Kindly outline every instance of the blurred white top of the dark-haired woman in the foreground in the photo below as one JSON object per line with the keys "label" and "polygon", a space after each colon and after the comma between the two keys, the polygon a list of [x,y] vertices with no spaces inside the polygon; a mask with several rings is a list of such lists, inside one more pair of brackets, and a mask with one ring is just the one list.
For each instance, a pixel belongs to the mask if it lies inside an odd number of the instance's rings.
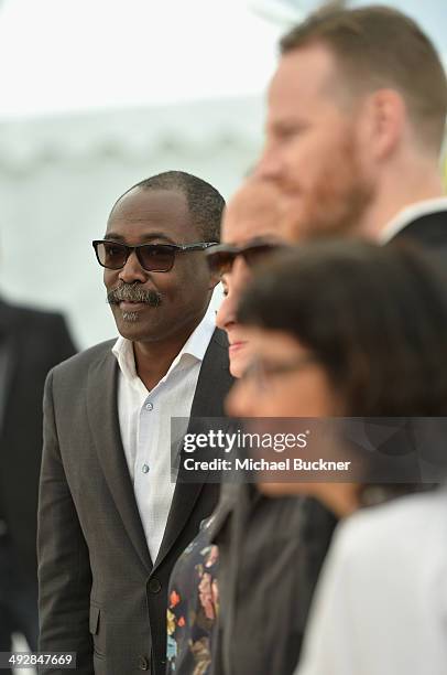
{"label": "blurred white top of the dark-haired woman in the foreground", "polygon": [[447,493],[339,525],[295,675],[446,675]]}

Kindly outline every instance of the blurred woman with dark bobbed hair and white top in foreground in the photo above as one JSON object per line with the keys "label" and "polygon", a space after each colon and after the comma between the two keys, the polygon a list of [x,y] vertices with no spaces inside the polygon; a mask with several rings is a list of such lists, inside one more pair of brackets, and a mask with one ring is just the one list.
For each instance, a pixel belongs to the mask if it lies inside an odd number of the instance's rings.
{"label": "blurred woman with dark bobbed hair and white top in foreground", "polygon": [[[260,270],[238,318],[250,329],[252,365],[230,394],[233,415],[447,414],[446,297],[417,250],[303,246]],[[339,516],[368,493],[336,482],[263,482],[260,489],[273,496],[313,494]],[[347,519],[325,562],[299,675],[445,673],[446,518],[440,490]]]}

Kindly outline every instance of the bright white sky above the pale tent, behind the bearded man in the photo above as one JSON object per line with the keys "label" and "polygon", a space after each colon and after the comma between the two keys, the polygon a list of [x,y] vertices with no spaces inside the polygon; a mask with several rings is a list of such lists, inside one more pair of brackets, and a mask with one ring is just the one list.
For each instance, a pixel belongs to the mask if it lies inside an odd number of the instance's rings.
{"label": "bright white sky above the pale tent, behind the bearded man", "polygon": [[[317,4],[0,0],[0,118],[262,95],[285,21]],[[392,4],[447,52],[447,0]]]}

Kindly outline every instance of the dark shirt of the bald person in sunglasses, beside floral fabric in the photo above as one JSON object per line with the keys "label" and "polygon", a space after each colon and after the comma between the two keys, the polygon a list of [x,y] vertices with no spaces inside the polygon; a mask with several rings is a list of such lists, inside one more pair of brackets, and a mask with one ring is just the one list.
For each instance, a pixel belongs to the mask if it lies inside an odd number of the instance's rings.
{"label": "dark shirt of the bald person in sunglasses, beside floral fabric", "polygon": [[212,675],[292,675],[335,516],[305,497],[222,486],[211,540],[219,547]]}

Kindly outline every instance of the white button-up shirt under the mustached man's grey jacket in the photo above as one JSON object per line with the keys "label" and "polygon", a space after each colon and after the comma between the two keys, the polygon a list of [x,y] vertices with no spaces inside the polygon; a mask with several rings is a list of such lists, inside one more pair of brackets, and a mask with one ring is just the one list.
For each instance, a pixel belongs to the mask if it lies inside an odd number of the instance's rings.
{"label": "white button-up shirt under the mustached man's grey jacket", "polygon": [[118,415],[122,444],[151,559],[155,562],[175,482],[171,479],[171,417],[189,417],[197,379],[215,330],[208,309],[166,375],[149,392],[135,369],[133,343],[120,336]]}

